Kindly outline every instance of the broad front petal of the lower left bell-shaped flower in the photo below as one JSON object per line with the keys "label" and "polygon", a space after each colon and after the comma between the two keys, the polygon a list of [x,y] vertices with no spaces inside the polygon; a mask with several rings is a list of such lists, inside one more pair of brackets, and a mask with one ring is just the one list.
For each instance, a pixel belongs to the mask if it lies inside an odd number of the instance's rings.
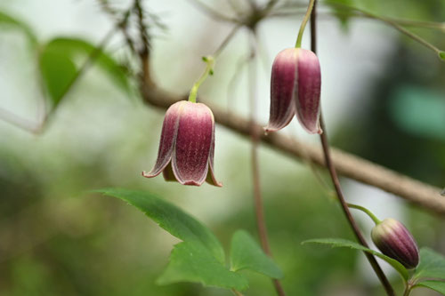
{"label": "broad front petal of the lower left bell-shaped flower", "polygon": [[185,102],[172,157],[174,176],[181,184],[200,186],[206,180],[213,132],[212,111],[204,104]]}

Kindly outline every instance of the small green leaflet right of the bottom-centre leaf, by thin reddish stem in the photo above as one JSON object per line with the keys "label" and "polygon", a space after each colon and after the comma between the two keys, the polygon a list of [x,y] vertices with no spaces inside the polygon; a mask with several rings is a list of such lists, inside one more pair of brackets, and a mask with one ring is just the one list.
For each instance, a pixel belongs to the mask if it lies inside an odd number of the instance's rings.
{"label": "small green leaflet right of the bottom-centre leaf, by thin reddish stem", "polygon": [[265,276],[281,278],[283,273],[267,256],[254,238],[244,230],[235,232],[231,239],[231,270],[250,269]]}

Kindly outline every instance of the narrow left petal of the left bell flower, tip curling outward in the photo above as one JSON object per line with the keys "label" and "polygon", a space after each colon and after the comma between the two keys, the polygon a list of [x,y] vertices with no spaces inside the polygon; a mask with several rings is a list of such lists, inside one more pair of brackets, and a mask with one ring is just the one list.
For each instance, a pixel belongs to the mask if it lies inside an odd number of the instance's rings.
{"label": "narrow left petal of the left bell flower, tip curling outward", "polygon": [[155,167],[150,172],[142,172],[142,176],[146,178],[156,177],[170,162],[184,103],[184,100],[178,101],[167,109],[164,124],[162,125],[161,140],[159,141],[158,159],[156,160]]}

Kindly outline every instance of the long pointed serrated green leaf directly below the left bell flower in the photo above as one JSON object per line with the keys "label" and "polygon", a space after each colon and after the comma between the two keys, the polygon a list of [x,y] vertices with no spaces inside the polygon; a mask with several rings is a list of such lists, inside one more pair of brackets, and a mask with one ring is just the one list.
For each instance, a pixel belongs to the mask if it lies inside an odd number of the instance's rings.
{"label": "long pointed serrated green leaf directly below the left bell flower", "polygon": [[161,228],[166,229],[172,236],[176,236],[184,242],[202,244],[215,260],[222,264],[225,262],[223,246],[214,234],[174,204],[170,204],[146,191],[104,188],[94,190],[94,192],[125,200],[128,204],[134,205],[145,213],[151,220],[157,222]]}

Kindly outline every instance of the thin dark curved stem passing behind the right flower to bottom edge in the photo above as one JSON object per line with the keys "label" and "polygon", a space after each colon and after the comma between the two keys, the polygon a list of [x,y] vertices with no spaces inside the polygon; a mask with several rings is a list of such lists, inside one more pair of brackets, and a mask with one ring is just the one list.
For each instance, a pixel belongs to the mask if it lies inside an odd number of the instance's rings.
{"label": "thin dark curved stem passing behind the right flower to bottom edge", "polygon": [[[317,52],[317,28],[316,28],[316,8],[314,4],[314,8],[312,10],[312,16],[311,16],[311,50],[312,52]],[[334,188],[336,189],[336,195],[338,197],[338,201],[340,202],[340,205],[342,206],[342,210],[344,212],[344,216],[348,220],[349,224],[351,225],[352,231],[354,232],[354,235],[357,237],[357,240],[365,247],[368,247],[368,243],[366,242],[365,238],[360,232],[360,228],[355,222],[355,220],[352,217],[351,212],[349,211],[348,205],[346,204],[346,201],[344,200],[344,195],[342,192],[342,188],[340,186],[340,180],[338,180],[338,176],[336,174],[336,169],[334,167],[334,164],[332,163],[332,159],[330,156],[330,150],[329,150],[329,143],[328,143],[328,136],[327,136],[327,129],[323,120],[323,115],[320,112],[320,127],[323,131],[320,134],[320,140],[321,140],[321,146],[323,149],[323,155],[325,158],[325,164],[328,167],[329,174],[331,176],[332,183],[334,184]],[[384,272],[382,268],[378,265],[376,258],[369,254],[368,252],[364,252],[365,256],[367,257],[371,267],[376,272],[376,276],[378,276],[380,282],[384,286],[385,292],[388,294],[388,296],[395,296],[394,291],[392,290],[392,286],[389,283],[386,276],[384,276]]]}

